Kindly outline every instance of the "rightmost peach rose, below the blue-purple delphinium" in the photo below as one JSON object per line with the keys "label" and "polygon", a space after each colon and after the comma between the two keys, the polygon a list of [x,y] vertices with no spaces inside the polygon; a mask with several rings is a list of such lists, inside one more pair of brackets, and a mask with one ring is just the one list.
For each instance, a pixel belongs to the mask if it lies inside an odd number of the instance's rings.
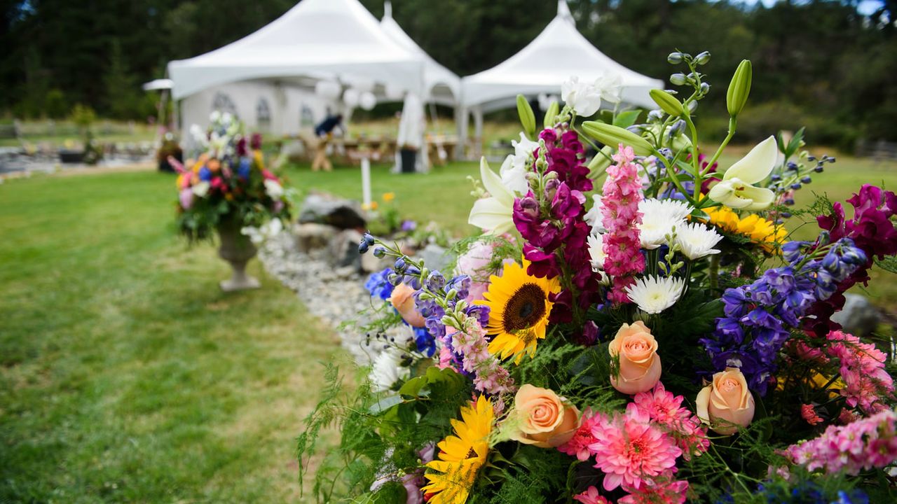
{"label": "rightmost peach rose, below the blue-purple delphinium", "polygon": [[701,388],[695,399],[698,418],[724,436],[753,420],[753,395],[741,369],[726,368],[713,375],[713,382]]}

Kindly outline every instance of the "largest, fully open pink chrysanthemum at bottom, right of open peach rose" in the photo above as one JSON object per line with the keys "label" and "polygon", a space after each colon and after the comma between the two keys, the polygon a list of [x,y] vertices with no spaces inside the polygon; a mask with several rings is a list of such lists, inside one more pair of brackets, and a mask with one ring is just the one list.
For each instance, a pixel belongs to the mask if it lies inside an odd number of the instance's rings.
{"label": "largest, fully open pink chrysanthemum at bottom, right of open peach rose", "polygon": [[596,467],[605,473],[605,490],[621,484],[640,488],[660,474],[675,472],[675,459],[682,455],[675,439],[650,424],[648,414],[635,404],[626,413],[602,418],[592,429],[596,442],[588,446]]}

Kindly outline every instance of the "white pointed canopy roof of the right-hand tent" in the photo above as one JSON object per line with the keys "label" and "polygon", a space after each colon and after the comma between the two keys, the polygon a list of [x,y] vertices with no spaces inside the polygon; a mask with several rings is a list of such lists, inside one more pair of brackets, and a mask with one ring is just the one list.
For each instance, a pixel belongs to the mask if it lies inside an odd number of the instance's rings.
{"label": "white pointed canopy roof of the right-hand tent", "polygon": [[512,107],[518,94],[557,93],[571,75],[578,75],[580,81],[617,75],[623,82],[623,101],[646,107],[654,106],[648,91],[664,85],[620,65],[590,44],[576,30],[566,0],[560,0],[553,21],[527,47],[461,80],[464,103],[483,111]]}

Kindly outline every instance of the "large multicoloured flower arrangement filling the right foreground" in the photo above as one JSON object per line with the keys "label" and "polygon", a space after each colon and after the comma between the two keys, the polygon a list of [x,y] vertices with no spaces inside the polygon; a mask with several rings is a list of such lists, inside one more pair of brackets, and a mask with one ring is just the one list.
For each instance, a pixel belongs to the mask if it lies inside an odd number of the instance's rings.
{"label": "large multicoloured flower arrangement filling the right foreground", "polygon": [[[350,393],[330,369],[299,438],[307,468],[319,431],[342,433],[314,459],[318,500],[895,501],[892,360],[831,316],[873,265],[897,269],[897,196],[796,210],[834,161],[802,133],[720,166],[751,65],[707,155],[709,60],[671,54],[679,91],[651,91],[643,122],[582,120],[618,100],[606,83],[566,83],[541,131],[518,100],[524,132],[499,173],[482,162],[484,233],[450,273],[365,235],[395,265],[367,283],[370,377]],[[817,237],[790,239],[783,223],[809,217]]]}

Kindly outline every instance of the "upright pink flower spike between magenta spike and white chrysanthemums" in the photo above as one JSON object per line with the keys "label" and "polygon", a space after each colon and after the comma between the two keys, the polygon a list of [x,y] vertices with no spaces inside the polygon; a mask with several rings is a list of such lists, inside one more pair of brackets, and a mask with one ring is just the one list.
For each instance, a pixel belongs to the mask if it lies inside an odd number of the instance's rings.
{"label": "upright pink flower spike between magenta spike and white chrysanthemums", "polygon": [[614,154],[616,164],[607,168],[601,197],[602,223],[607,230],[605,272],[614,276],[614,286],[607,298],[617,303],[631,302],[625,289],[634,282],[633,275],[645,269],[638,227],[641,223],[641,182],[638,167],[632,162],[634,159],[632,148],[621,143]]}

